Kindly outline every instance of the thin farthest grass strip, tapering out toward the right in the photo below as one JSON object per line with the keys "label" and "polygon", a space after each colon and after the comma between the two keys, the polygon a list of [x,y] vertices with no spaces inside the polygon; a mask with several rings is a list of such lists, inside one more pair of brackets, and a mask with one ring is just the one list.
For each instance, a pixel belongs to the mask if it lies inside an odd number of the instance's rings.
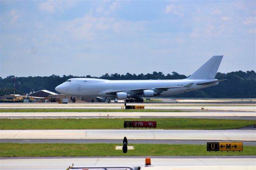
{"label": "thin farthest grass strip, tapering out toward the right", "polygon": [[0,112],[188,112],[178,110],[126,109],[0,109]]}

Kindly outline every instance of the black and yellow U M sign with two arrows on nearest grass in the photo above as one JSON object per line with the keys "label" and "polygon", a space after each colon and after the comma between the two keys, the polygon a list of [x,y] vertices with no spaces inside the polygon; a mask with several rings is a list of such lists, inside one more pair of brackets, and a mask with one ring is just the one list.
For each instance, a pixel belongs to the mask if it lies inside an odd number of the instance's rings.
{"label": "black and yellow U M sign with two arrows on nearest grass", "polygon": [[207,142],[207,151],[243,151],[243,142]]}

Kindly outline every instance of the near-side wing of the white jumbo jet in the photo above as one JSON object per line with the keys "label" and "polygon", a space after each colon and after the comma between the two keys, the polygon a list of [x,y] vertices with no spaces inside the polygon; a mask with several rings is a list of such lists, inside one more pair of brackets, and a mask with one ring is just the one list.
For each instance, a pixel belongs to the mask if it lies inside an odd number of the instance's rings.
{"label": "near-side wing of the white jumbo jet", "polygon": [[143,90],[153,90],[158,93],[162,93],[163,91],[167,91],[168,89],[179,88],[179,87],[191,87],[194,83],[189,83],[185,86],[172,86],[172,87],[156,87],[156,88],[146,88],[146,89],[128,89],[128,90],[120,90],[120,91],[106,91],[107,95],[116,95],[118,92],[133,92],[134,94],[142,93]]}

